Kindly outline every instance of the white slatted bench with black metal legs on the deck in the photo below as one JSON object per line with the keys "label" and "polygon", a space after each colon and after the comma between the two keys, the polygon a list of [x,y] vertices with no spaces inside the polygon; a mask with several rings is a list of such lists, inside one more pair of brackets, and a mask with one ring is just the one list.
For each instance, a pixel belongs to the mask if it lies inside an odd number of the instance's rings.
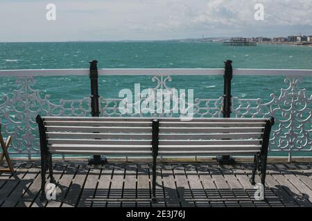
{"label": "white slatted bench with black metal legs on the deck", "polygon": [[52,154],[153,157],[156,201],[157,157],[254,155],[254,176],[266,179],[266,159],[274,118],[40,117],[42,195],[46,169],[53,180]]}

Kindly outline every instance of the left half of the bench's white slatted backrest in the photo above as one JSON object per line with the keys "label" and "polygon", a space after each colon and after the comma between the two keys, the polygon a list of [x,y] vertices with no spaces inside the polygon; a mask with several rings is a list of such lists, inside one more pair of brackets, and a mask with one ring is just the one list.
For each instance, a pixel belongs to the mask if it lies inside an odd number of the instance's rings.
{"label": "left half of the bench's white slatted backrest", "polygon": [[150,119],[42,117],[51,153],[151,155]]}

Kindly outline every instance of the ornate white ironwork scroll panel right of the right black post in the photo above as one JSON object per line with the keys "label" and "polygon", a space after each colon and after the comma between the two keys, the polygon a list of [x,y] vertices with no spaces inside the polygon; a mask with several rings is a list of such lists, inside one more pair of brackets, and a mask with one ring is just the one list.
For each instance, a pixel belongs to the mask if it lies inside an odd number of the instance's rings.
{"label": "ornate white ironwork scroll panel right of the right black post", "polygon": [[312,95],[300,88],[301,78],[287,77],[288,88],[270,95],[270,102],[261,99],[233,97],[235,117],[275,117],[270,151],[312,151]]}

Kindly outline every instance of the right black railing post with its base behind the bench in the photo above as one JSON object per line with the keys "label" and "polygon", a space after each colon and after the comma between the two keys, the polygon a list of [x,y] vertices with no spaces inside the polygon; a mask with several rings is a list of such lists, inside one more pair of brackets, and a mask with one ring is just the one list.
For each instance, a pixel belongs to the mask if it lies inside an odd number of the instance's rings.
{"label": "right black railing post with its base behind the bench", "polygon": [[[232,113],[232,78],[233,78],[233,67],[231,60],[224,61],[225,72],[224,72],[224,93],[223,93],[223,117],[231,117]],[[220,164],[234,164],[233,157],[229,155],[217,156],[216,159]]]}

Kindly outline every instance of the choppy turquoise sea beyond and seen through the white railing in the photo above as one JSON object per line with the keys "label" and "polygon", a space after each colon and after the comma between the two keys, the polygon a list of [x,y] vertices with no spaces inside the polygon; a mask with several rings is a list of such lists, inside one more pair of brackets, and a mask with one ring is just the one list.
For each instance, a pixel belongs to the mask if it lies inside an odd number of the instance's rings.
{"label": "choppy turquoise sea beyond and seen through the white railing", "polygon": [[[231,59],[234,68],[312,69],[312,47],[258,45],[229,47],[218,43],[175,41],[150,42],[61,42],[0,43],[0,70],[41,68],[89,68],[98,60],[98,68],[223,68]],[[122,88],[155,87],[150,76],[101,76],[101,96],[117,98]],[[218,98],[223,95],[222,76],[173,76],[168,86],[193,88],[195,97]],[[234,76],[232,94],[241,98],[261,98],[268,102],[271,93],[279,95],[287,88],[284,77]],[[35,89],[42,95],[59,99],[81,99],[89,96],[89,77],[35,77]],[[300,88],[311,95],[312,77],[304,77]],[[0,104],[3,94],[16,89],[15,78],[0,77]]]}

